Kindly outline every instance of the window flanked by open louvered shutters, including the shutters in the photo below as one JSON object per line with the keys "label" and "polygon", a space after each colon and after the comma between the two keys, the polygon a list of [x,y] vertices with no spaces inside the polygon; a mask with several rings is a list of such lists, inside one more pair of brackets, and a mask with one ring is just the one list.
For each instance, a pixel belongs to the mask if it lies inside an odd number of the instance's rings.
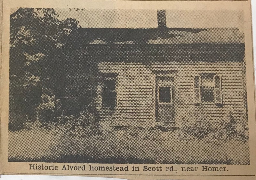
{"label": "window flanked by open louvered shutters, including the shutters", "polygon": [[195,103],[209,102],[222,104],[221,77],[215,74],[202,74],[194,77]]}

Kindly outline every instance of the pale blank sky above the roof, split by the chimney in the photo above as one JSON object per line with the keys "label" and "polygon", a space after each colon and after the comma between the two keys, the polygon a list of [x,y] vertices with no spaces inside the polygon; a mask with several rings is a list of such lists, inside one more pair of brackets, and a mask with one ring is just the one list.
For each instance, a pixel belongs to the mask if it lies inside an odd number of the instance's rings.
{"label": "pale blank sky above the roof, split by the chimney", "polygon": [[[156,28],[157,10],[56,9],[60,19],[75,18],[81,27]],[[167,27],[230,28],[243,31],[242,11],[166,10]]]}

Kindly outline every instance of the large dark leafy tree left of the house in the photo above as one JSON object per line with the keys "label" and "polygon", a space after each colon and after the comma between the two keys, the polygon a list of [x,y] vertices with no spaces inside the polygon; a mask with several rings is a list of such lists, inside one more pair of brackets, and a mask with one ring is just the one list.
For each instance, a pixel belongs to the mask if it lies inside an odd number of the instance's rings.
{"label": "large dark leafy tree left of the house", "polygon": [[20,8],[10,16],[10,112],[14,119],[19,113],[23,119],[33,119],[42,94],[58,97],[60,55],[66,37],[78,28],[77,20],[58,18],[54,9],[34,8]]}

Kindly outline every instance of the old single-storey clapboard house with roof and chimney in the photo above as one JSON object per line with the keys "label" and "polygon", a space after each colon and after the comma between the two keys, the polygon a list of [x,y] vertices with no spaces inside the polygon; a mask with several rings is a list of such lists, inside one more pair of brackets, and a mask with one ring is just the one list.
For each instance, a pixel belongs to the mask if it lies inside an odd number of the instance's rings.
{"label": "old single-storey clapboard house with roof and chimney", "polygon": [[157,11],[157,20],[156,28],[72,32],[63,87],[67,104],[91,103],[101,123],[114,126],[180,127],[184,118],[216,122],[229,111],[242,120],[243,40],[228,29],[166,27],[164,10]]}

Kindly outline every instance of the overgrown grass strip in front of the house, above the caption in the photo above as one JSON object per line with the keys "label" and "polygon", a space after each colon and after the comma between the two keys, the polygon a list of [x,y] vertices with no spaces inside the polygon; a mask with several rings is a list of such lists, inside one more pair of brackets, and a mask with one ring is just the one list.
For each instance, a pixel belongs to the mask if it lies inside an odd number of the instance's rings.
{"label": "overgrown grass strip in front of the house, above the caption", "polygon": [[108,129],[84,137],[56,129],[10,131],[8,155],[15,162],[250,164],[248,142],[197,139],[180,129]]}

